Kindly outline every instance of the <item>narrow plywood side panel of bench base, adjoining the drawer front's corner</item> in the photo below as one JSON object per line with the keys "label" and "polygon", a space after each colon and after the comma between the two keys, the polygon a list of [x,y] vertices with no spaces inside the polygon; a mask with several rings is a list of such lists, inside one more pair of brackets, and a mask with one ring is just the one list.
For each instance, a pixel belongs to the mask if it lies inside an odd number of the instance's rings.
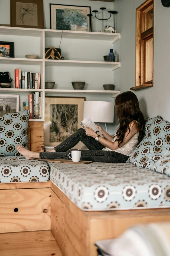
{"label": "narrow plywood side panel of bench base, adjoining the drawer front's corner", "polygon": [[64,203],[51,190],[51,231],[64,254]]}

